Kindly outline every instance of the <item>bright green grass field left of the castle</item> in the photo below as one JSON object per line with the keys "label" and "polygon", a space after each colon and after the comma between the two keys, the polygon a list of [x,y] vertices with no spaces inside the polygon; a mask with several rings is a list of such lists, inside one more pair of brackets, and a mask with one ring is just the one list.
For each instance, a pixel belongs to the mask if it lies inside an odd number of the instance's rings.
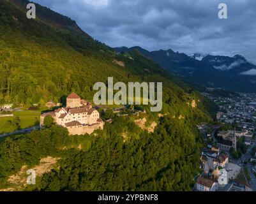
{"label": "bright green grass field left of the castle", "polygon": [[20,127],[22,129],[33,127],[36,121],[40,120],[39,111],[20,111],[14,112],[13,114],[13,117],[0,117],[0,134],[15,131],[15,128],[8,124],[8,120],[13,120],[14,117],[20,118]]}

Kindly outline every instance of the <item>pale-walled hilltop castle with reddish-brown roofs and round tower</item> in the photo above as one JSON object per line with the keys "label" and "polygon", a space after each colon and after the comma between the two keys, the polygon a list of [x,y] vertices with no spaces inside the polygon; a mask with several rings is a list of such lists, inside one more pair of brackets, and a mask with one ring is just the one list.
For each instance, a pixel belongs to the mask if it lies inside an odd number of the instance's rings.
{"label": "pale-walled hilltop castle with reddish-brown roofs and round tower", "polygon": [[65,108],[43,113],[40,117],[40,126],[43,126],[43,120],[47,115],[52,116],[59,126],[68,128],[70,135],[91,134],[95,129],[103,129],[104,126],[100,113],[91,103],[81,99],[74,92],[66,98]]}

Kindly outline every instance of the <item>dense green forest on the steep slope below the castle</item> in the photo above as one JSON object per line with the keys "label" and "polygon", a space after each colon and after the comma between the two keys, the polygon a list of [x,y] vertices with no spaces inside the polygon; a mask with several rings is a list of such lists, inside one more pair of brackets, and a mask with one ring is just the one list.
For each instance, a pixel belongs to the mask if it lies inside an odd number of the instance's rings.
{"label": "dense green forest on the steep slope below the castle", "polygon": [[[156,131],[147,133],[132,118],[121,117],[97,136],[68,136],[66,129],[52,125],[6,138],[0,143],[0,187],[9,187],[6,179],[24,163],[33,167],[52,156],[61,157],[59,168],[26,190],[189,191],[202,148],[195,122],[162,117]],[[129,135],[126,142],[123,132]],[[75,148],[81,143],[82,149]]]}

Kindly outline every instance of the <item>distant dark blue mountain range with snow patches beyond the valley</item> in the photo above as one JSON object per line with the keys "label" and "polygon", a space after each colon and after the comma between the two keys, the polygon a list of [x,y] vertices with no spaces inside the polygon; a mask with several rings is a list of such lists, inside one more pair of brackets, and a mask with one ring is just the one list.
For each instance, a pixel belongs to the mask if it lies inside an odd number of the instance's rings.
{"label": "distant dark blue mountain range with snow patches beyond the valley", "polygon": [[196,87],[216,87],[236,92],[256,92],[256,66],[241,55],[234,57],[221,55],[193,54],[158,50],[149,52],[141,47],[119,47],[117,52],[127,53],[139,50],[153,59],[184,82]]}

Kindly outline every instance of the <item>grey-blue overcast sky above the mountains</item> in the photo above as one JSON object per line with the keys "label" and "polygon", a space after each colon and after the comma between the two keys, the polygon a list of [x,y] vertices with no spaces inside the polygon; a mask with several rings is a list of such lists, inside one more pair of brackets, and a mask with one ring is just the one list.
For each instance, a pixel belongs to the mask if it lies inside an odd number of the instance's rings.
{"label": "grey-blue overcast sky above the mountains", "polygon": [[[33,0],[111,47],[244,55],[256,64],[255,0]],[[218,18],[226,3],[228,18]]]}

